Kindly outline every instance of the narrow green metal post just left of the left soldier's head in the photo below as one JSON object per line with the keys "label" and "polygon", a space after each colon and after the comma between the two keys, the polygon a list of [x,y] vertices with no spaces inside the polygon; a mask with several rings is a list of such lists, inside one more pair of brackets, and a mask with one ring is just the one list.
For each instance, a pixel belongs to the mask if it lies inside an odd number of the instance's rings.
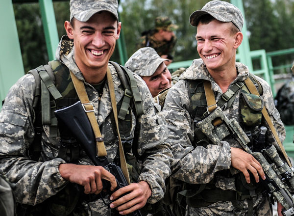
{"label": "narrow green metal post just left of the left soldier's head", "polygon": [[39,0],[49,60],[55,59],[59,38],[52,0]]}

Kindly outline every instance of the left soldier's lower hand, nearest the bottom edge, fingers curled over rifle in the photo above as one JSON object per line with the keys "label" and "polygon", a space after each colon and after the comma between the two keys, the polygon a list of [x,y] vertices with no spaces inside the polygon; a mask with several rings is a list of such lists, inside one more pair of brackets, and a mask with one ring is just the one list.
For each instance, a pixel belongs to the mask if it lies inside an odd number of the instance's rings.
{"label": "left soldier's lower hand, nearest the bottom edge, fingers curled over rifle", "polygon": [[[125,194],[127,193],[127,194]],[[122,196],[125,194],[124,196]],[[121,198],[119,198],[122,196]],[[146,205],[151,196],[151,189],[147,182],[132,183],[111,194],[110,200],[118,200],[110,204],[110,208],[116,208],[121,215],[127,215]]]}

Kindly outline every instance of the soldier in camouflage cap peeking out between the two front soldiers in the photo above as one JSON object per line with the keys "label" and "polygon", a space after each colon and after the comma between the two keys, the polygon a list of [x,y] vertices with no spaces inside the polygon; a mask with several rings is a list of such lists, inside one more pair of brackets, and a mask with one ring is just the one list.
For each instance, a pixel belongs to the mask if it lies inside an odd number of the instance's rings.
{"label": "soldier in camouflage cap peeking out between the two front soldiers", "polygon": [[171,73],[165,61],[169,59],[161,58],[153,48],[145,47],[136,51],[124,66],[139,75],[146,82],[152,97],[155,97],[172,86]]}

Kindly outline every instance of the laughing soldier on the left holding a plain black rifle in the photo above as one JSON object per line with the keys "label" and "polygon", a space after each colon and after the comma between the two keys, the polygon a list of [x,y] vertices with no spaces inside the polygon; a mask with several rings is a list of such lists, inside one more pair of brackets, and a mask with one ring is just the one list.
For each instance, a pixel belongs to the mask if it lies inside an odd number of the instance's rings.
{"label": "laughing soldier on the left holding a plain black rifle", "polygon": [[[117,9],[117,0],[71,0],[71,21],[65,21],[67,35],[61,38],[57,60],[49,62],[49,66],[54,69],[57,88],[67,82],[66,86],[61,86],[65,87],[61,92],[64,103],[70,103],[72,99],[64,95],[73,94],[73,99],[77,98],[71,87],[69,70],[73,78],[83,83],[102,134],[97,139],[104,141],[108,161],[120,164],[117,133],[111,120],[114,111],[110,102],[110,83],[113,82],[117,102],[125,93],[121,89],[123,81],[118,76],[118,69],[109,62],[121,32]],[[53,67],[53,64],[58,66]],[[102,166],[94,166],[78,145],[70,148],[61,145],[59,134],[54,135],[57,131],[53,130],[53,120],[51,125],[43,122],[41,127],[42,142],[37,145],[41,149],[40,157],[37,161],[30,158],[30,151],[35,152],[31,147],[39,129],[34,127],[34,122],[41,118],[33,108],[38,83],[32,74],[27,74],[11,87],[0,112],[0,172],[15,184],[16,201],[22,207],[19,215],[110,216],[114,209],[127,215],[163,197],[165,178],[171,173],[171,146],[164,141],[167,134],[162,127],[163,119],[157,113],[158,108],[152,102],[146,83],[139,76],[132,76],[132,84],[135,84],[132,86],[138,90],[138,106],[143,110],[140,114],[126,110],[130,121],[124,121],[128,125],[122,125],[122,129],[128,129],[130,137],[126,137],[123,147],[127,158],[136,156],[134,161],[141,160],[142,168],[133,183],[110,193],[111,203],[96,194],[102,190],[102,179],[110,182],[113,191],[117,186],[115,177]],[[44,101],[41,102],[43,110]],[[61,102],[51,101],[54,104],[51,108],[65,106]],[[131,144],[134,134],[137,143],[127,145]],[[134,166],[128,168],[131,170]],[[76,188],[82,188],[82,191]]]}

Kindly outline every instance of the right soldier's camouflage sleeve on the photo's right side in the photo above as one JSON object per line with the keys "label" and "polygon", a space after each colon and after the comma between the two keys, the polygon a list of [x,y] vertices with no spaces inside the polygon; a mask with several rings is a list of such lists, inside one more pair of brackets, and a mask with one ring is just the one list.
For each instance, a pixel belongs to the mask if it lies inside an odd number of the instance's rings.
{"label": "right soldier's camouflage sleeve on the photo's right side", "polygon": [[[278,112],[278,110],[274,106],[274,101],[273,101],[270,86],[266,81],[262,80],[261,78],[259,78],[257,76],[255,76],[255,78],[262,85],[262,88],[263,88],[262,98],[264,100],[264,106],[266,107],[266,109],[270,115],[270,119],[273,123],[273,126],[274,126],[281,142],[283,143],[284,139],[286,138],[286,131],[284,128],[284,124],[281,121],[280,113]],[[269,129],[270,127],[268,126],[267,128]],[[275,140],[274,136],[272,135],[272,133],[270,132],[270,130],[267,131],[267,137],[268,137],[268,142],[270,144],[273,144],[277,149],[280,149],[278,143],[276,142],[276,140]]]}

